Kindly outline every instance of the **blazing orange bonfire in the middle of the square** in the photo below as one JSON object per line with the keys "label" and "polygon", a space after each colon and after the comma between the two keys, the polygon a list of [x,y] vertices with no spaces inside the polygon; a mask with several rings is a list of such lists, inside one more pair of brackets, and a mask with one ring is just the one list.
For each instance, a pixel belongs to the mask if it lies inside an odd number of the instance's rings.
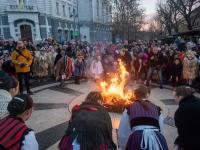
{"label": "blazing orange bonfire in the middle of the square", "polygon": [[104,106],[111,112],[121,113],[134,100],[134,93],[126,88],[129,73],[124,63],[118,60],[116,73],[109,74],[106,81],[99,84]]}

